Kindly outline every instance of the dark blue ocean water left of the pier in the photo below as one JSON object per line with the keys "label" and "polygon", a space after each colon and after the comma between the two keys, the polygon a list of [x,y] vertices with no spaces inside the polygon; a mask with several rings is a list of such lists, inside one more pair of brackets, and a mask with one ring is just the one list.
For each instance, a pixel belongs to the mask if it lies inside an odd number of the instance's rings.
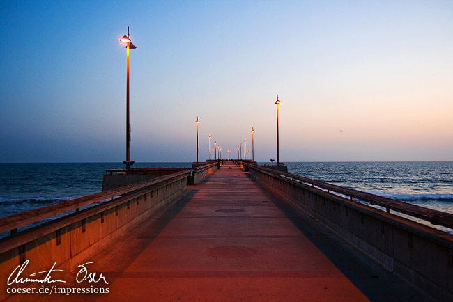
{"label": "dark blue ocean water left of the pier", "polygon": [[[134,168],[190,168],[192,163],[135,163]],[[0,164],[0,218],[102,189],[107,169],[122,163]]]}

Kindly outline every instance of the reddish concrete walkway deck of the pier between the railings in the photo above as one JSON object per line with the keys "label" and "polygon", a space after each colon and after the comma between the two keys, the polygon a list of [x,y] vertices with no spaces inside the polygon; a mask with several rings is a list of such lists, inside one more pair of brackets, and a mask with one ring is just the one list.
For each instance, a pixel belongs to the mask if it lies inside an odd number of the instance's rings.
{"label": "reddish concrete walkway deck of the pier between the railings", "polygon": [[91,260],[109,294],[88,299],[429,301],[314,224],[226,164]]}

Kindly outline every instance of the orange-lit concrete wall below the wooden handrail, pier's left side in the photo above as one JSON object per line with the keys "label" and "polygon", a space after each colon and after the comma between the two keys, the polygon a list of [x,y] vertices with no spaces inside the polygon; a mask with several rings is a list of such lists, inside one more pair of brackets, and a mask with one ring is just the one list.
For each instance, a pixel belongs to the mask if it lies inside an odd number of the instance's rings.
{"label": "orange-lit concrete wall below the wooden handrail, pier's left side", "polygon": [[[186,188],[187,175],[181,175],[130,194],[130,197],[126,195],[118,200],[103,202],[2,241],[0,248],[6,251],[0,254],[0,301],[7,298],[8,276],[24,260],[29,259],[30,262],[23,276],[29,276],[29,273],[43,268],[49,269],[54,262],[57,262],[59,269],[74,270],[79,264],[89,260],[91,255],[110,246],[125,232],[181,196]],[[109,204],[113,206],[110,207]],[[27,237],[29,241],[17,246],[15,241],[19,237]],[[10,298],[20,299],[21,296],[15,294]]]}

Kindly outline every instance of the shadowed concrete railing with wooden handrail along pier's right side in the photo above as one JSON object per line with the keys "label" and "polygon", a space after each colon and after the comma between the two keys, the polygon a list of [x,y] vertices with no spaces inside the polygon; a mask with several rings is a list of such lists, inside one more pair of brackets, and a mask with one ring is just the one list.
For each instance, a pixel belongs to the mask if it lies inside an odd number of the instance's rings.
{"label": "shadowed concrete railing with wooden handrail along pier's right side", "polygon": [[[399,205],[397,200],[250,165],[249,173],[275,193],[326,225],[387,271],[397,273],[440,301],[453,301],[453,235],[353,201],[387,201],[387,208],[412,212],[452,228],[452,214]],[[311,184],[309,182],[312,181]],[[307,183],[308,182],[308,183]],[[316,182],[316,187],[314,182]],[[330,193],[341,191],[342,196]],[[404,203],[404,202],[401,202]],[[385,207],[381,203],[381,206]]]}

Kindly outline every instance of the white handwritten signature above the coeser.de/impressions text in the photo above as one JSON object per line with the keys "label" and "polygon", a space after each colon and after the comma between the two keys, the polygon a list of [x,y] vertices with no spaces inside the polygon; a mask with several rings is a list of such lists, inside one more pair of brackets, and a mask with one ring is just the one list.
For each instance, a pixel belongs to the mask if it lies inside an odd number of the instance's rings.
{"label": "white handwritten signature above the coeser.de/impressions text", "polygon": [[[27,283],[27,282],[37,282],[37,283],[56,283],[56,282],[61,282],[61,283],[66,283],[65,280],[59,280],[59,279],[52,279],[52,276],[50,274],[53,271],[64,271],[63,269],[55,269],[56,262],[54,262],[54,265],[52,265],[52,268],[49,269],[48,271],[38,271],[37,273],[31,273],[29,276],[37,276],[40,273],[47,273],[44,278],[24,278],[21,276],[22,272],[25,270],[26,266],[29,264],[29,259],[27,259],[22,265],[18,265],[14,271],[10,274],[8,277],[8,285],[12,285],[13,283]],[[77,276],[75,280],[77,283],[81,283],[83,281],[87,281],[88,283],[98,283],[100,280],[104,281],[105,284],[107,283],[107,280],[105,280],[105,277],[102,276],[102,273],[96,278],[96,273],[89,273],[88,270],[86,269],[86,264],[90,264],[93,262],[86,262],[82,265],[79,265],[80,267],[79,272],[77,273]]]}

